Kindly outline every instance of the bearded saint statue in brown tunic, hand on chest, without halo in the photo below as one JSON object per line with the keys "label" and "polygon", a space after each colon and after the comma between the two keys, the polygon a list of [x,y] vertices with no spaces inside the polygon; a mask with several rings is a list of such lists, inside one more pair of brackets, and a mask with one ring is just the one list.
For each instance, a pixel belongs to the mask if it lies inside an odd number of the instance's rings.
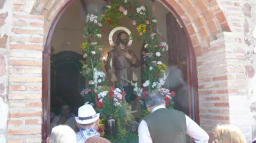
{"label": "bearded saint statue in brown tunic, hand on chest, without halo", "polygon": [[128,42],[129,35],[126,32],[118,33],[116,45],[113,50],[108,52],[105,69],[111,77],[111,82],[115,83],[116,87],[122,87],[127,94],[125,99],[127,102],[131,102],[131,100],[135,100],[136,96],[133,94],[133,87],[127,80],[134,81],[136,77],[134,77],[131,67],[139,67],[140,61],[134,51],[129,50]]}

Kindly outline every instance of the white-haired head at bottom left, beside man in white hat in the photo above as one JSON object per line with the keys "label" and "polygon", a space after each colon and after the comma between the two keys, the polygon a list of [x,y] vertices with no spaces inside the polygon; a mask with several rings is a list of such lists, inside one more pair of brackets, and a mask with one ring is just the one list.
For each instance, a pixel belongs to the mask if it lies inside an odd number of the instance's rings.
{"label": "white-haired head at bottom left, beside man in white hat", "polygon": [[76,143],[75,131],[67,125],[55,126],[52,129],[50,137],[47,137],[47,143]]}

